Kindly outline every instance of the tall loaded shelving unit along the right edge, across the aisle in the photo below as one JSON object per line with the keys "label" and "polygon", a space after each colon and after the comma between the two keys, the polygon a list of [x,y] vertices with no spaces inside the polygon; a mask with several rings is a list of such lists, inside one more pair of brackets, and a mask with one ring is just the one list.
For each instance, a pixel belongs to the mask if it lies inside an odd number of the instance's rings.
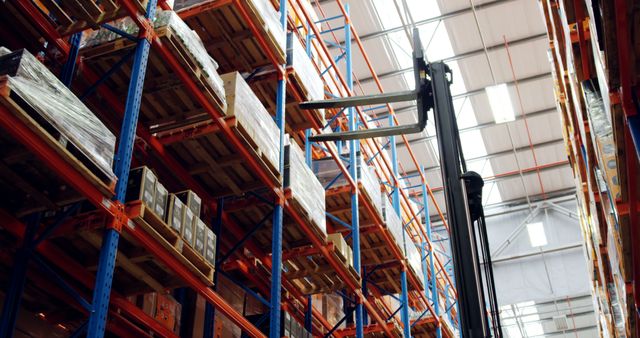
{"label": "tall loaded shelving unit along the right edge, across the aisle", "polygon": [[638,336],[635,1],[545,0],[558,110],[578,187],[600,333]]}

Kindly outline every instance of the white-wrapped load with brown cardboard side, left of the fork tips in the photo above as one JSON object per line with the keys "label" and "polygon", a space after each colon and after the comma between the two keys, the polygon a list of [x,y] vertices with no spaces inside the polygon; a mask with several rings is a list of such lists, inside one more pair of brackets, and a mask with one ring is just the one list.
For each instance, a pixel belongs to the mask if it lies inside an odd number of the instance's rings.
{"label": "white-wrapped load with brown cardboard side, left of the fork tips", "polygon": [[221,76],[227,95],[227,116],[236,118],[273,168],[280,167],[280,130],[251,87],[238,72]]}

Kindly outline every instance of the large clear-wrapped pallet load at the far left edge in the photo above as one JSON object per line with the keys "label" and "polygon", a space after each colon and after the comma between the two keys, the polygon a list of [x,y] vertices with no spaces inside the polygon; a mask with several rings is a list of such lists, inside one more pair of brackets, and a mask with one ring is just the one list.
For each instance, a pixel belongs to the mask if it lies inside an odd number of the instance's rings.
{"label": "large clear-wrapped pallet load at the far left edge", "polygon": [[0,74],[8,74],[11,90],[115,180],[116,137],[47,67],[26,50],[0,47]]}

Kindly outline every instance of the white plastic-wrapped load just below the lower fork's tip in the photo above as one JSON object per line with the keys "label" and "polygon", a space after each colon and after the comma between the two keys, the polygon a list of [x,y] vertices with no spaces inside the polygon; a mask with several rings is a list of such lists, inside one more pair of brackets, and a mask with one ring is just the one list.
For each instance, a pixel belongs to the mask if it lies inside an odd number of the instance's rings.
{"label": "white plastic-wrapped load just below the lower fork's tip", "polygon": [[304,153],[295,140],[285,150],[285,188],[291,188],[293,198],[307,212],[311,221],[327,233],[324,187],[304,160]]}

